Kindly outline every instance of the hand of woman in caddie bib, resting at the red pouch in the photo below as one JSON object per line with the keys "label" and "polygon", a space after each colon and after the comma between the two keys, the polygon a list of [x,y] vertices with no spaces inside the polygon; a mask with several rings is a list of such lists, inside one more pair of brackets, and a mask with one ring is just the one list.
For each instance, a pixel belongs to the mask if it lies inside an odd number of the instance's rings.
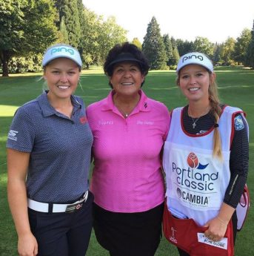
{"label": "hand of woman in caddie bib, resting at the red pouch", "polygon": [[213,241],[219,241],[224,237],[224,234],[227,230],[227,224],[223,220],[220,220],[219,217],[215,217],[212,220],[209,220],[204,227],[208,229],[204,232],[204,235]]}

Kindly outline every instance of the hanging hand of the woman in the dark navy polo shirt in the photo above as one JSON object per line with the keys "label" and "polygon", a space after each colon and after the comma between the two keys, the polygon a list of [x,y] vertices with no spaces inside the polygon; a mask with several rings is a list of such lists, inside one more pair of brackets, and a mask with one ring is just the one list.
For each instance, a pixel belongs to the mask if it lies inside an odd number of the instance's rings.
{"label": "hanging hand of the woman in the dark navy polo shirt", "polygon": [[19,256],[36,256],[38,254],[38,243],[32,233],[19,237],[18,252]]}

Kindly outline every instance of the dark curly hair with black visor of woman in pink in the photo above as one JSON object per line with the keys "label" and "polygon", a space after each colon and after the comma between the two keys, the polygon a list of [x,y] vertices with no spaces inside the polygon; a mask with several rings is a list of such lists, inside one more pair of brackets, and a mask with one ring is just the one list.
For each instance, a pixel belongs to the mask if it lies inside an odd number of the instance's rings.
{"label": "dark curly hair with black visor of woman in pink", "polygon": [[147,75],[149,64],[144,53],[136,45],[124,42],[123,44],[115,45],[107,54],[106,61],[104,62],[104,73],[107,76],[113,75],[113,68],[119,62],[136,62],[139,66],[141,73]]}

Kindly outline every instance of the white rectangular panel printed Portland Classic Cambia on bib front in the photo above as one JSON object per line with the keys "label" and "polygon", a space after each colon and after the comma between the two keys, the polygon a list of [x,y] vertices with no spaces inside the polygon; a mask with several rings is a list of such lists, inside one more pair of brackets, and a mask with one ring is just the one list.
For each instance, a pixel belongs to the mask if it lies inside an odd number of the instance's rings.
{"label": "white rectangular panel printed Portland Classic Cambia on bib front", "polygon": [[[213,151],[167,142],[170,154],[167,197],[177,199],[181,207],[198,211],[218,210],[228,182],[224,183],[224,165],[213,159]],[[229,160],[229,153],[224,153]],[[226,188],[225,188],[226,187]]]}

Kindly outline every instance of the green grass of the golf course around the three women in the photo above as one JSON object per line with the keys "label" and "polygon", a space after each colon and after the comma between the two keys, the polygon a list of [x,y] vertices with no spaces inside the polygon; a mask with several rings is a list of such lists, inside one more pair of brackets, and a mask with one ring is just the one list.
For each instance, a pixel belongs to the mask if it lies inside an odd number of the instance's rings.
{"label": "green grass of the golf course around the three women", "polygon": [[[248,186],[250,196],[254,198],[254,71],[242,67],[218,67],[217,82],[221,102],[227,105],[237,106],[247,112],[247,120],[250,125],[250,173]],[[7,132],[13,113],[20,105],[34,99],[42,91],[42,81],[39,81],[41,73],[12,75],[9,78],[0,77],[0,255],[14,256],[16,253],[16,232],[13,220],[7,205],[6,183],[7,166],[5,143]],[[144,91],[147,96],[164,102],[169,109],[186,104],[176,86],[176,73],[174,71],[150,71],[144,83]],[[81,75],[81,87],[76,94],[83,97],[86,105],[104,98],[110,91],[107,77],[100,68],[83,70]],[[238,237],[235,245],[236,256],[254,255],[254,210],[250,208],[245,226]],[[94,234],[90,240],[87,256],[107,256],[108,253],[96,242]],[[162,238],[156,256],[176,256],[176,248]],[[137,255],[138,256],[138,255]],[[211,255],[213,256],[213,255]]]}

